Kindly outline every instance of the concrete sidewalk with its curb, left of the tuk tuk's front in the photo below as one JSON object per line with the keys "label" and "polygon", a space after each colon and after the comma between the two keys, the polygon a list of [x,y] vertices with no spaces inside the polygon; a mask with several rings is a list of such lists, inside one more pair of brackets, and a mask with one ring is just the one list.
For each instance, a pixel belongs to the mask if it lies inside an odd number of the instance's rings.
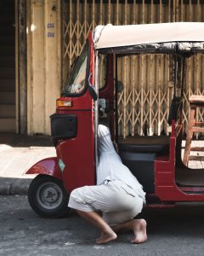
{"label": "concrete sidewalk with its curb, left of the tuk tuk's front", "polygon": [[26,194],[36,175],[26,171],[37,161],[55,156],[50,137],[0,133],[0,195]]}

